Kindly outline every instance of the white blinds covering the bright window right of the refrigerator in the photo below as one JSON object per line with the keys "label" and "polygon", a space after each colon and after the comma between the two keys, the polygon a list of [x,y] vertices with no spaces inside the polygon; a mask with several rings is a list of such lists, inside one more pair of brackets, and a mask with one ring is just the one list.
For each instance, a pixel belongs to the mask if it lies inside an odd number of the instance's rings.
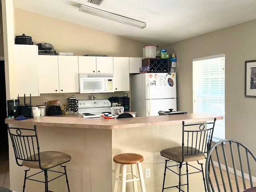
{"label": "white blinds covering the bright window right of the refrigerator", "polygon": [[193,112],[223,116],[213,140],[225,139],[225,55],[193,60]]}

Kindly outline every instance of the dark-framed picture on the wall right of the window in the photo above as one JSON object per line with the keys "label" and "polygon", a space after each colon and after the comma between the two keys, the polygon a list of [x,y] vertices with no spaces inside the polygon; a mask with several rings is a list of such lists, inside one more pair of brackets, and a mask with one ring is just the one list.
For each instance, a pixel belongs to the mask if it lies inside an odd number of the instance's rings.
{"label": "dark-framed picture on the wall right of the window", "polygon": [[256,98],[256,60],[245,61],[244,96]]}

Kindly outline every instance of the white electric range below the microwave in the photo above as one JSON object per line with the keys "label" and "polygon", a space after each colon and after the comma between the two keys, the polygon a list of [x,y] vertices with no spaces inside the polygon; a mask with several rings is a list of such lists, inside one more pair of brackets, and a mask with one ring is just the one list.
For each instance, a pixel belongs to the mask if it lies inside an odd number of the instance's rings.
{"label": "white electric range below the microwave", "polygon": [[100,118],[104,113],[111,117],[111,102],[107,99],[78,100],[78,113],[84,118]]}

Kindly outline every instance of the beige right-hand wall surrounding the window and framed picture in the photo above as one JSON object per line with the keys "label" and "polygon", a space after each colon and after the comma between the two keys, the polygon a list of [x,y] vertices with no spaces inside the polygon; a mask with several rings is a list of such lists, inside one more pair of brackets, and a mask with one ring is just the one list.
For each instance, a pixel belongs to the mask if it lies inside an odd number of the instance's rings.
{"label": "beige right-hand wall surrounding the window and framed picture", "polygon": [[256,20],[252,20],[166,47],[177,54],[178,110],[188,112],[193,112],[192,60],[225,54],[226,138],[243,142],[254,154],[256,98],[244,97],[244,62],[256,59],[255,34]]}

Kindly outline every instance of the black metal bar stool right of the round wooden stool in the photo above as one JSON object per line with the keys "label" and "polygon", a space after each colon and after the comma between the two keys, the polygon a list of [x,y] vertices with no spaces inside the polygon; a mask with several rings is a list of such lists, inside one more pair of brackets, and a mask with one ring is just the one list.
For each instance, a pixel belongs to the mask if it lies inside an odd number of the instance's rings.
{"label": "black metal bar stool right of the round wooden stool", "polygon": [[[184,192],[182,186],[187,186],[189,192],[188,175],[201,172],[204,182],[204,190],[206,191],[203,163],[199,160],[206,159],[206,154],[210,150],[212,143],[212,134],[215,126],[216,118],[213,122],[185,124],[182,122],[182,144],[180,146],[166,148],[160,151],[161,156],[165,157],[164,181],[162,192],[169,188],[178,188],[179,192]],[[175,165],[167,165],[168,161],[177,162]],[[196,167],[190,162],[196,162],[201,166]],[[186,165],[186,173],[182,174],[182,166]],[[191,170],[188,170],[188,167]],[[179,183],[174,186],[165,186],[166,170],[170,170],[179,176]],[[186,182],[182,183],[181,176],[186,176]]]}

